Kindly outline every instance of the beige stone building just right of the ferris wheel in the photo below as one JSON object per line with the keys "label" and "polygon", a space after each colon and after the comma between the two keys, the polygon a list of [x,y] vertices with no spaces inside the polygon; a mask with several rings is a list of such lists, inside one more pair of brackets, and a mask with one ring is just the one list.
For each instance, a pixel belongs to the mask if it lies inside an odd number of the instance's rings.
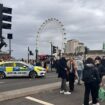
{"label": "beige stone building just right of the ferris wheel", "polygon": [[84,53],[84,43],[80,42],[79,40],[72,39],[68,40],[66,43],[66,50],[67,54],[78,54]]}

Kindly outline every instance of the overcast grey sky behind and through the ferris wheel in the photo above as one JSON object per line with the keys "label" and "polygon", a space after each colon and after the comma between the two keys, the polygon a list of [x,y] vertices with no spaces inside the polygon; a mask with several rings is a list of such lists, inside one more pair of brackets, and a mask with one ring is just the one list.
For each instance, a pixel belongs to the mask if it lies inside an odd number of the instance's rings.
{"label": "overcast grey sky behind and through the ferris wheel", "polygon": [[[27,58],[27,47],[35,52],[35,37],[48,18],[59,19],[66,29],[66,37],[79,39],[90,49],[102,49],[105,42],[105,0],[0,0],[13,8],[12,56]],[[40,53],[50,53],[50,43],[61,45],[62,32],[56,23],[47,24],[40,33]],[[8,40],[5,39],[8,44]],[[8,51],[7,48],[2,50]]]}

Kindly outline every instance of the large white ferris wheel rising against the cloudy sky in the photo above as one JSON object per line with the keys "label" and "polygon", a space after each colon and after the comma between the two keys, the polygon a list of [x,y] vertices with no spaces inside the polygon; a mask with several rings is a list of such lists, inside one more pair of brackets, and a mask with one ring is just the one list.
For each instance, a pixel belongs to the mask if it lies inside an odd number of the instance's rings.
{"label": "large white ferris wheel rising against the cloudy sky", "polygon": [[56,18],[49,18],[45,20],[36,33],[36,56],[38,54],[50,53],[50,44],[53,43],[61,52],[65,51],[66,32],[64,25]]}

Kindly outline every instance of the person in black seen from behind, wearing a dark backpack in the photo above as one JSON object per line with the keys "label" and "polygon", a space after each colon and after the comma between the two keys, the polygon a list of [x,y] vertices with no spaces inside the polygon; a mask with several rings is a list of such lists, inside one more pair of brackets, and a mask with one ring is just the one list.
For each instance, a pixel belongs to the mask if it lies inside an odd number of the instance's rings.
{"label": "person in black seen from behind, wearing a dark backpack", "polygon": [[88,58],[83,70],[83,78],[85,93],[84,93],[84,105],[89,105],[89,94],[91,92],[92,104],[100,105],[97,100],[98,87],[100,84],[100,76],[97,68],[94,66],[94,60]]}

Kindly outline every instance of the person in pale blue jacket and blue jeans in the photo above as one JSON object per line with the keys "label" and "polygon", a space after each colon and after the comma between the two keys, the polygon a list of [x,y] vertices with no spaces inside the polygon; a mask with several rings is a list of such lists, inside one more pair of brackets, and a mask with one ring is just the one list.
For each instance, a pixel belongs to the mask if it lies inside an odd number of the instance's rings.
{"label": "person in pale blue jacket and blue jeans", "polygon": [[76,65],[77,65],[77,73],[78,73],[78,85],[81,85],[82,72],[84,69],[84,64],[81,58],[76,59]]}

